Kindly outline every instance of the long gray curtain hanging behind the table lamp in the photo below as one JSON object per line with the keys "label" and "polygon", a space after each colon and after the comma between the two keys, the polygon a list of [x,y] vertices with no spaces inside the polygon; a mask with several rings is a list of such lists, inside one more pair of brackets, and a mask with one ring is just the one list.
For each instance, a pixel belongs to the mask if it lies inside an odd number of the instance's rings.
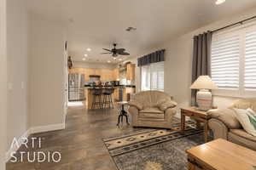
{"label": "long gray curtain hanging behind the table lamp", "polygon": [[[194,37],[192,83],[202,75],[211,76],[212,32],[207,31]],[[196,104],[196,90],[191,92],[191,105]]]}

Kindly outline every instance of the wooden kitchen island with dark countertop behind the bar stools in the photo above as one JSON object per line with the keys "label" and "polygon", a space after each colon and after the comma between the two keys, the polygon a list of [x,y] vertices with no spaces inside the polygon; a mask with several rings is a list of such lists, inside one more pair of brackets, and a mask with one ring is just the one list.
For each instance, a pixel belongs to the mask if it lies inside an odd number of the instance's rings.
{"label": "wooden kitchen island with dark countertop behind the bar stools", "polygon": [[[136,88],[132,85],[127,86],[107,86],[107,87],[84,87],[84,96],[85,96],[85,107],[87,109],[92,108],[92,102],[93,102],[93,93],[95,89],[104,89],[106,88],[113,88],[113,94],[112,94],[112,101],[127,101],[130,99],[131,94],[135,94]],[[101,99],[103,100],[103,95],[101,96]],[[100,109],[98,106],[96,109]]]}

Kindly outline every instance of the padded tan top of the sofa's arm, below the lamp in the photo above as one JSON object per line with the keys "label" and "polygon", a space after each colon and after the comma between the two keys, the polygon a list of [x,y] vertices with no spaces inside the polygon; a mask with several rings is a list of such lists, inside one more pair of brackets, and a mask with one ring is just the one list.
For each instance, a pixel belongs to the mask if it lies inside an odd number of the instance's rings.
{"label": "padded tan top of the sofa's arm, below the lamp", "polygon": [[235,112],[231,109],[212,110],[207,113],[211,118],[223,122],[228,128],[241,128],[240,122],[236,119]]}

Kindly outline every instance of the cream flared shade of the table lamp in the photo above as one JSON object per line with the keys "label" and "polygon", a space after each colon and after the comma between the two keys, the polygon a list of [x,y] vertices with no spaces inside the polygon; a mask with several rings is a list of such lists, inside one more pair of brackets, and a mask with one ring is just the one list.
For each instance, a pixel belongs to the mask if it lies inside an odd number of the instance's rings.
{"label": "cream flared shade of the table lamp", "polygon": [[218,86],[209,76],[201,76],[196,79],[196,81],[190,87],[191,89],[218,89]]}

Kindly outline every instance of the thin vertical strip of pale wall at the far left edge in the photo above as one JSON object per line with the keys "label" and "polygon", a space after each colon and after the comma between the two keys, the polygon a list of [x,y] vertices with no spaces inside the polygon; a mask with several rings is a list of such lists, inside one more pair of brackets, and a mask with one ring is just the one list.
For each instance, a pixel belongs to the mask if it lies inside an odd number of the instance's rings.
{"label": "thin vertical strip of pale wall at the far left edge", "polygon": [[0,0],[0,77],[0,170],[4,170],[7,150],[6,0]]}

